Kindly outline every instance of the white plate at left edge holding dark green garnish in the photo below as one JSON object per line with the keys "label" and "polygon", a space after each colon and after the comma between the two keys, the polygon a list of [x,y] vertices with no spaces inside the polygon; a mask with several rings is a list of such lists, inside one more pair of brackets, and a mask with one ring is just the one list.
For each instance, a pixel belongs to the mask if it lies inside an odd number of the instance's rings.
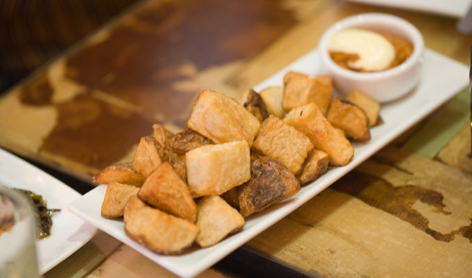
{"label": "white plate at left edge holding dark green garnish", "polygon": [[80,193],[3,149],[0,149],[0,183],[10,188],[31,190],[46,200],[48,208],[60,208],[52,218],[51,236],[36,240],[41,275],[94,236],[96,228],[67,209],[71,202],[81,197]]}

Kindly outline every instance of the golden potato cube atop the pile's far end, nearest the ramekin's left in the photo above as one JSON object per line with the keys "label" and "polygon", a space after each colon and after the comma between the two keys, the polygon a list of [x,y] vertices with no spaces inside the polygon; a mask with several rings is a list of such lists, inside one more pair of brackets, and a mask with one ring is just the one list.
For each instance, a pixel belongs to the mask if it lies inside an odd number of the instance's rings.
{"label": "golden potato cube atop the pile's far end, nearest the ramekin's left", "polygon": [[285,111],[314,102],[321,113],[326,114],[334,91],[330,76],[309,77],[292,72],[290,77],[285,79],[287,83],[285,83],[282,102]]}

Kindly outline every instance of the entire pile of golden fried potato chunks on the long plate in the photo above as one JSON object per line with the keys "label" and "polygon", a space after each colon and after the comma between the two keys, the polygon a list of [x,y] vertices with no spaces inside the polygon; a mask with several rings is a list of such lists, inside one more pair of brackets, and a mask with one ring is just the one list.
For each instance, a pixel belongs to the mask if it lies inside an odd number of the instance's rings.
{"label": "entire pile of golden fried potato chunks on the long plate", "polygon": [[154,252],[209,247],[245,218],[292,197],[300,186],[348,164],[351,141],[368,141],[380,105],[362,92],[341,99],[330,76],[288,72],[284,85],[240,99],[203,90],[172,133],[160,124],[140,139],[133,161],[94,177],[107,184],[104,218]]}

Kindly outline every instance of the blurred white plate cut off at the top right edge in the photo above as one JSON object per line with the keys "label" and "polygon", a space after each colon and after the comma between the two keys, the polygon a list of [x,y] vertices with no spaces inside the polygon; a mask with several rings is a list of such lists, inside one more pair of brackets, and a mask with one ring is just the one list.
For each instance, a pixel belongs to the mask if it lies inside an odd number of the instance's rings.
{"label": "blurred white plate cut off at the top right edge", "polygon": [[376,6],[418,10],[448,17],[462,18],[471,6],[472,0],[348,0]]}

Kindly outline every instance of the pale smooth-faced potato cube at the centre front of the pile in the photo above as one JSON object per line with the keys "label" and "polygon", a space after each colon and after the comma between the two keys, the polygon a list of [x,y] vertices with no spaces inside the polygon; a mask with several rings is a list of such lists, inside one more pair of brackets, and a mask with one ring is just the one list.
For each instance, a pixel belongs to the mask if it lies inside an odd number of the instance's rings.
{"label": "pale smooth-faced potato cube at the centre front of the pile", "polygon": [[245,140],[192,149],[185,158],[193,197],[220,195],[251,179],[251,154]]}

